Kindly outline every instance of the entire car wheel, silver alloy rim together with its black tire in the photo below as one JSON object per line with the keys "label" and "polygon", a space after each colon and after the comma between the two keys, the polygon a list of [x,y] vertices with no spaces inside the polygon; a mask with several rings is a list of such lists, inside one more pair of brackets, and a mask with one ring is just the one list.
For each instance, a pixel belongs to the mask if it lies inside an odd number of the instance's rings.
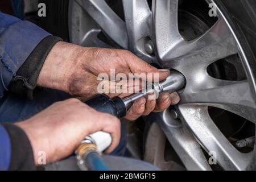
{"label": "entire car wheel, silver alloy rim together with its black tire", "polygon": [[69,41],[129,49],[183,73],[180,103],[147,117],[181,166],[255,169],[255,7],[241,0],[69,1]]}

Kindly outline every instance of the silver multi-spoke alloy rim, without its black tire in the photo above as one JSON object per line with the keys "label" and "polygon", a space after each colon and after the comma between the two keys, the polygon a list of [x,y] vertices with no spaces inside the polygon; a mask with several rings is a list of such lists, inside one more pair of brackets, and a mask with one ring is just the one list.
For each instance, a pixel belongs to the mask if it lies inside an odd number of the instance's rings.
{"label": "silver multi-spoke alloy rim, without its black tire", "polygon": [[[212,1],[208,1],[210,3]],[[256,122],[254,78],[236,34],[218,9],[217,22],[199,38],[186,41],[178,28],[179,0],[123,0],[125,21],[102,0],[70,1],[69,36],[72,43],[110,47],[98,38],[104,32],[117,47],[129,49],[148,63],[176,69],[187,78],[181,102],[163,113],[151,114],[188,170],[211,170],[202,148],[215,152],[226,170],[253,169],[255,150],[239,152],[210,118],[208,107],[218,107]],[[154,52],[154,53],[152,53]],[[247,72],[245,81],[218,80],[207,67],[239,54]],[[173,109],[180,119],[172,117]]]}

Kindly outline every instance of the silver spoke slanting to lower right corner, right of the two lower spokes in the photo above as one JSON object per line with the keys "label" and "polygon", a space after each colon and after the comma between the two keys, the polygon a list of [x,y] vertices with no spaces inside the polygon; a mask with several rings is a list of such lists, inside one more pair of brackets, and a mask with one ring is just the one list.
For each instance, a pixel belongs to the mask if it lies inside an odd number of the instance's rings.
{"label": "silver spoke slanting to lower right corner, right of the two lower spokes", "polygon": [[215,156],[222,168],[226,170],[246,169],[252,154],[242,154],[233,147],[210,118],[207,106],[180,105],[179,110],[202,147]]}

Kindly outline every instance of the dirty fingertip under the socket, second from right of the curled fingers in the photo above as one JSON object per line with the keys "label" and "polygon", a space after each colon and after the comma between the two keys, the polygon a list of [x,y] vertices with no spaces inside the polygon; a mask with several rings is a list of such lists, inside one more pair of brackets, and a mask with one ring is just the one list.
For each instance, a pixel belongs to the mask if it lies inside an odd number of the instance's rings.
{"label": "dirty fingertip under the socket, second from right of the curled fingers", "polygon": [[154,109],[155,113],[163,111],[171,105],[171,97],[168,92],[163,92],[159,95],[158,100],[156,100],[156,106]]}

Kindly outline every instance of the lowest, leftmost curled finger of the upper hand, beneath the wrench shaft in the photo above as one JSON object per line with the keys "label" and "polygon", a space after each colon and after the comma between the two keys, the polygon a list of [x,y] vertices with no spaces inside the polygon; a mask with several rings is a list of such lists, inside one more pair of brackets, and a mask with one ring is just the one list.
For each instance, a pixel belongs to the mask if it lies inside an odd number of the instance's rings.
{"label": "lowest, leftmost curled finger of the upper hand, beneath the wrench shaft", "polygon": [[140,98],[134,102],[131,108],[127,111],[125,119],[134,121],[138,119],[145,110],[146,98]]}

